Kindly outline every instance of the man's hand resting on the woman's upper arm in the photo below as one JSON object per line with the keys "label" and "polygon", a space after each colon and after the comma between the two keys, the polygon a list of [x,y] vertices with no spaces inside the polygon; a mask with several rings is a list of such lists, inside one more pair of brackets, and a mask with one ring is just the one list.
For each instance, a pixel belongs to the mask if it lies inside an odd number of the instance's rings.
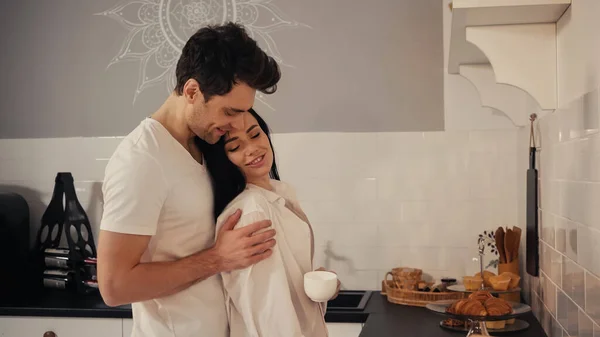
{"label": "man's hand resting on the woman's upper arm", "polygon": [[225,221],[213,247],[222,272],[244,269],[258,263],[271,256],[271,248],[275,246],[275,230],[263,231],[271,227],[270,220],[234,229],[241,214],[237,210]]}

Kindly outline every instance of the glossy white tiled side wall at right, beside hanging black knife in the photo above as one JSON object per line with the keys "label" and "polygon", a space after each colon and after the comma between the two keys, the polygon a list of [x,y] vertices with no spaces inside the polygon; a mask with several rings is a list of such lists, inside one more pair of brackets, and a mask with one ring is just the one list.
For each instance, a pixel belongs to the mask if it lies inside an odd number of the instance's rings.
{"label": "glossy white tiled side wall at right, beside hanging black knife", "polygon": [[[525,298],[549,337],[599,335],[600,133],[598,89],[539,121],[541,182],[539,280],[526,277]],[[529,129],[519,131],[519,139]],[[526,165],[520,153],[518,166]],[[523,202],[523,195],[520,195]],[[521,208],[519,208],[521,211]],[[519,219],[524,222],[523,213]],[[541,284],[536,288],[535,283]],[[596,331],[594,331],[596,329]],[[563,332],[564,330],[564,332]]]}

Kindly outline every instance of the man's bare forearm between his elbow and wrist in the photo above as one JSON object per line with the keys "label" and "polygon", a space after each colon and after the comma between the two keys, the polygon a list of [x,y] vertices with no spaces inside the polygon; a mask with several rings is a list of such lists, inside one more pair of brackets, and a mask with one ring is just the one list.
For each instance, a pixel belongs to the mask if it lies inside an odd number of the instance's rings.
{"label": "man's bare forearm between his elbow and wrist", "polygon": [[[101,292],[108,305],[116,306],[173,295],[220,272],[212,249],[169,262],[140,263],[112,281]],[[99,275],[101,278],[102,275]]]}

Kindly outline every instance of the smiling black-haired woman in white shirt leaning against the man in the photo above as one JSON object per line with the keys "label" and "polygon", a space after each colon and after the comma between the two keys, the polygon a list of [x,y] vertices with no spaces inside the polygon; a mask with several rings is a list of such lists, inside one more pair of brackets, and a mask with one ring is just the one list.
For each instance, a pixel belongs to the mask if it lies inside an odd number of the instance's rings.
{"label": "smiling black-haired woman in white shirt leaning against the man", "polygon": [[221,274],[231,337],[327,336],[324,306],[304,293],[313,232],[294,191],[279,181],[267,124],[251,109],[243,128],[201,149],[214,185],[217,233],[236,209],[242,210],[236,227],[269,219],[277,233],[270,258]]}

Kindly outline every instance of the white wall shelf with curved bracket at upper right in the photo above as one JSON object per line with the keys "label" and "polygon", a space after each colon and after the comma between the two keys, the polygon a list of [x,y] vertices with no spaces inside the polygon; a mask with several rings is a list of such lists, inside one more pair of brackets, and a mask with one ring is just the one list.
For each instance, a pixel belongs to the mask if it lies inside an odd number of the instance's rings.
{"label": "white wall shelf with curved bracket at upper right", "polygon": [[[544,110],[556,109],[556,22],[570,4],[571,0],[454,0],[448,72],[461,74],[464,65],[491,66],[496,83],[523,89]],[[473,77],[481,69],[467,72]],[[480,82],[469,80],[476,86]],[[487,92],[489,83],[486,86],[478,91]],[[482,98],[485,101],[489,98]],[[521,117],[515,118],[519,124]]]}

